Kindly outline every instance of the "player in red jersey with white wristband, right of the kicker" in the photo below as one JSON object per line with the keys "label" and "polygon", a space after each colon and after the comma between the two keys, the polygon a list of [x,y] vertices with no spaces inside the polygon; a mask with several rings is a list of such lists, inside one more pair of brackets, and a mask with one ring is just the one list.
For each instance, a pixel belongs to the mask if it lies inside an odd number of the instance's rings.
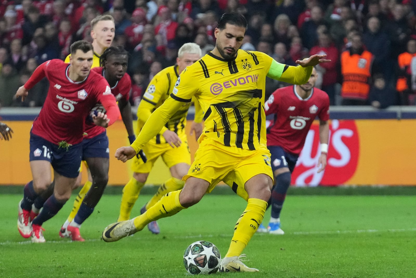
{"label": "player in red jersey with white wristband, right of the kicker", "polygon": [[327,165],[329,97],[324,91],[314,88],[316,79],[317,71],[314,68],[306,84],[277,89],[265,103],[266,115],[275,115],[274,123],[267,133],[267,148],[271,153],[275,184],[269,201],[272,217],[267,229],[260,225],[259,232],[284,234],[280,228],[280,211],[290,186],[291,174],[315,117],[319,118],[321,142],[318,160],[318,167],[321,167],[318,173]]}

